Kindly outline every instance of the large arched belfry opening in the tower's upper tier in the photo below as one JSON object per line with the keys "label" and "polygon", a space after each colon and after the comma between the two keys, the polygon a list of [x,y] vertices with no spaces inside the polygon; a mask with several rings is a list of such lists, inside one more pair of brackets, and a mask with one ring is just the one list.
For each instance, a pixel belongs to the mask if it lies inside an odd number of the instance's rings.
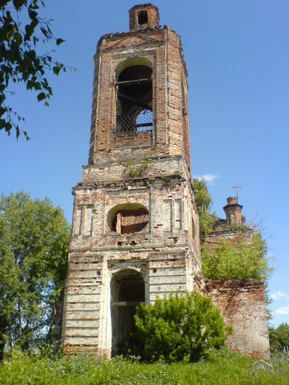
{"label": "large arched belfry opening in the tower's upper tier", "polygon": [[116,133],[148,131],[153,126],[151,63],[133,57],[121,63],[116,73]]}

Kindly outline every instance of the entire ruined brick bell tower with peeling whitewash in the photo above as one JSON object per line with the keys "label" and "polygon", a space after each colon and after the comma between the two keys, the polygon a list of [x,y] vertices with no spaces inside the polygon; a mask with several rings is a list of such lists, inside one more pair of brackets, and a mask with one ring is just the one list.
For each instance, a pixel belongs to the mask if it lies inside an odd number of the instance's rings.
{"label": "entire ruined brick bell tower with peeling whitewash", "polygon": [[129,32],[102,36],[94,57],[89,160],[73,188],[65,352],[123,354],[140,302],[204,289],[180,38],[159,26],[152,4],[133,7],[129,22]]}

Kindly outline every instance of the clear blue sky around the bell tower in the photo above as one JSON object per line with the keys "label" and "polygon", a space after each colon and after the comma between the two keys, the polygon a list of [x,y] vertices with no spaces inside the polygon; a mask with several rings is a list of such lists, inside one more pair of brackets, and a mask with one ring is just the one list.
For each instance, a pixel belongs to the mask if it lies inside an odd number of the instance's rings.
{"label": "clear blue sky around the bell tower", "polygon": [[[101,35],[129,30],[131,0],[49,0],[42,11],[66,42],[55,57],[77,72],[48,75],[50,107],[25,87],[11,100],[31,140],[0,132],[0,192],[49,197],[71,222],[71,187],[87,164],[93,55]],[[276,267],[269,280],[273,323],[289,323],[288,0],[156,0],[160,25],[182,38],[189,73],[193,176],[206,176],[213,210],[238,184],[239,203],[258,218]],[[47,46],[47,49],[49,47]]]}

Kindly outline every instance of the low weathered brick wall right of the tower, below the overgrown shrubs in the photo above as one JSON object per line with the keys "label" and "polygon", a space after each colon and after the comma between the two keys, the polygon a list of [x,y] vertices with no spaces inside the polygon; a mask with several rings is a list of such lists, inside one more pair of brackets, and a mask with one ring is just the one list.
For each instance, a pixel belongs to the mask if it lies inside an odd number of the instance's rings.
{"label": "low weathered brick wall right of the tower, below the overgrown shrubs", "polygon": [[234,333],[226,341],[233,351],[253,358],[270,357],[264,284],[247,281],[206,281],[206,290],[220,307]]}

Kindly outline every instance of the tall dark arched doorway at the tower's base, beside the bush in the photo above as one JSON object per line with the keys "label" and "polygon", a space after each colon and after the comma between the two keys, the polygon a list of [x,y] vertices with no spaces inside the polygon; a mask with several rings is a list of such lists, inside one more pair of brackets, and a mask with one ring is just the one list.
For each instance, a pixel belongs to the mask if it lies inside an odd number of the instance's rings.
{"label": "tall dark arched doorway at the tower's base, beside the bush", "polygon": [[136,306],[145,302],[145,281],[141,274],[127,268],[118,272],[111,283],[112,356],[130,349],[135,330]]}

